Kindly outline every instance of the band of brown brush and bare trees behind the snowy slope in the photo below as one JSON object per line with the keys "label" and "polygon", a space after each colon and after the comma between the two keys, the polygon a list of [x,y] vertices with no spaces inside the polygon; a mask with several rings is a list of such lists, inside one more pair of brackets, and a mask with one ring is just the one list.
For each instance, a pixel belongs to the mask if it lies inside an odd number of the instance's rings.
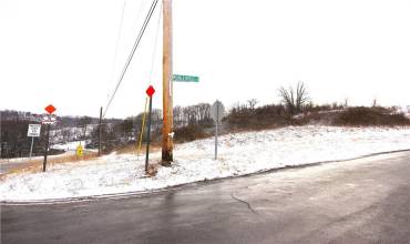
{"label": "band of brown brush and bare trees behind the snowy slope", "polygon": [[[321,124],[335,126],[407,126],[410,120],[397,108],[378,106],[376,100],[371,106],[349,106],[344,103],[315,104],[309,96],[305,83],[295,87],[279,88],[278,104],[258,105],[256,99],[236,103],[226,112],[221,126],[221,133],[243,131],[259,131],[288,125]],[[28,156],[30,140],[27,138],[29,123],[38,123],[35,114],[1,111],[2,131],[1,157]],[[174,141],[189,142],[213,136],[214,122],[211,119],[211,104],[198,103],[191,106],[174,108]],[[124,120],[104,119],[102,123],[102,150],[104,154],[113,151],[120,153],[136,152],[143,113]],[[86,148],[98,149],[99,120],[89,116],[58,118],[53,128],[53,142],[64,143],[75,140],[86,140]],[[152,144],[153,149],[161,146],[162,111],[152,112]],[[34,143],[34,155],[42,155],[45,144],[44,130],[42,136]],[[143,134],[146,141],[146,132]],[[62,151],[52,150],[50,154]]]}

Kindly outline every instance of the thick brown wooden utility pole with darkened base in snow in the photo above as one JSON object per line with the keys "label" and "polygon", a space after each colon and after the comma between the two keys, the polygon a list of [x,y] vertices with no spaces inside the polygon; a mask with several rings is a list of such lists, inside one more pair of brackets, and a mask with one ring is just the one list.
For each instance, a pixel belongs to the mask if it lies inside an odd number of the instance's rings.
{"label": "thick brown wooden utility pole with darkened base in snow", "polygon": [[173,161],[173,71],[172,71],[172,0],[163,0],[163,128],[162,128],[162,164]]}

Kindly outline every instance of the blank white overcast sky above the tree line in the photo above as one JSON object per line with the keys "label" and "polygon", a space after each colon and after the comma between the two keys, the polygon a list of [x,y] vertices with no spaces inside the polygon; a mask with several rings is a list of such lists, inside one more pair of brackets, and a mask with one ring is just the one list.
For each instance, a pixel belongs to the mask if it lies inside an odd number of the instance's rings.
{"label": "blank white overcast sky above the tree line", "polygon": [[[0,0],[0,109],[98,116],[150,4]],[[279,102],[298,81],[315,103],[410,104],[409,12],[409,0],[174,0],[174,73],[201,78],[174,83],[174,104]],[[141,112],[150,83],[162,106],[158,20],[160,8],[106,116]]]}

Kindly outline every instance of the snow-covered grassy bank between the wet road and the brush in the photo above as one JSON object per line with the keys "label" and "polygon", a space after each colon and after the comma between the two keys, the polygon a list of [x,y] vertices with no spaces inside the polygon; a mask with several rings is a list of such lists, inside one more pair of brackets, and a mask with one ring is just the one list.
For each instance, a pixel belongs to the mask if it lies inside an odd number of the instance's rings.
{"label": "snow-covered grassy bank between the wet road and the brush", "polygon": [[[287,165],[347,160],[410,149],[410,128],[288,126],[227,134],[177,145],[175,163],[144,176],[144,157],[111,154],[95,161],[55,164],[45,173],[9,175],[1,180],[1,201],[34,201],[157,190],[167,186],[243,175]],[[151,162],[160,160],[151,154]]]}

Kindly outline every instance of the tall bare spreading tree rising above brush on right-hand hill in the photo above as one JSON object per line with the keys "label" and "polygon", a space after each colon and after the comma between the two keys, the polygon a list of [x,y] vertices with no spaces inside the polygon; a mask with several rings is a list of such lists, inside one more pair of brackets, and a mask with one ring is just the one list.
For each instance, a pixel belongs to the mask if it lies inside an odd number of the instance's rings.
{"label": "tall bare spreading tree rising above brush on right-hand hill", "polygon": [[279,88],[279,95],[290,115],[300,113],[303,106],[309,101],[308,92],[304,82],[298,82],[296,94],[294,88],[289,87],[289,89],[285,89],[281,87]]}

